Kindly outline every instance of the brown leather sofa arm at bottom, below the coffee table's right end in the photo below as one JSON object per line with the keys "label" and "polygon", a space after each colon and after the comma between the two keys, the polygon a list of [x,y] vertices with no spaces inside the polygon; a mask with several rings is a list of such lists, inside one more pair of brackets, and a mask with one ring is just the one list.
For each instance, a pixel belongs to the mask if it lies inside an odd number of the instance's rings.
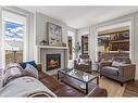
{"label": "brown leather sofa arm at bottom, below the coffee table's right end", "polygon": [[90,96],[108,96],[106,89],[96,87],[89,94],[87,94],[88,98]]}

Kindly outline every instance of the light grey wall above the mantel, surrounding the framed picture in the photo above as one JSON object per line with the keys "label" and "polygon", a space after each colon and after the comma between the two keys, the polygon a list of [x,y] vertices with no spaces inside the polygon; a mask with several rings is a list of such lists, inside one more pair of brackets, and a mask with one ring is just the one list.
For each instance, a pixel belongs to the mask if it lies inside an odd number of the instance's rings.
{"label": "light grey wall above the mantel, surrounding the framed picture", "polygon": [[47,22],[60,25],[62,27],[62,40],[67,43],[67,26],[52,17],[36,12],[36,44],[39,46],[40,41],[47,39]]}

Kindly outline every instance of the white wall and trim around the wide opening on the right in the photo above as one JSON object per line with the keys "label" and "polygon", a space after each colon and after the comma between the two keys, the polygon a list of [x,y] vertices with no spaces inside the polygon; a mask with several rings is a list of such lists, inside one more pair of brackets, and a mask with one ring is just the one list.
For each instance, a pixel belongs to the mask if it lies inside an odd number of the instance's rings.
{"label": "white wall and trim around the wide opening on the right", "polygon": [[[90,40],[89,40],[89,51],[91,60],[95,62],[97,56],[97,28],[121,24],[124,22],[131,22],[131,62],[136,64],[136,79],[138,79],[138,12],[131,13],[122,17],[117,17],[111,21],[106,21],[104,23],[100,23],[97,25],[90,26]],[[89,27],[83,28],[89,29]],[[81,31],[83,29],[79,29]],[[87,30],[88,31],[88,30]],[[79,35],[79,34],[78,34]],[[80,36],[78,36],[80,37]],[[80,40],[80,39],[79,39]]]}

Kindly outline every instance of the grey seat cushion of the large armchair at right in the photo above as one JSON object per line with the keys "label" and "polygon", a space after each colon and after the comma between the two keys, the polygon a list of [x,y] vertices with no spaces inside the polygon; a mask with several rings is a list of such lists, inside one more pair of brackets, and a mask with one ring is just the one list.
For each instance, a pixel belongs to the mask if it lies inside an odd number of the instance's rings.
{"label": "grey seat cushion of the large armchair at right", "polygon": [[102,68],[102,72],[109,73],[109,74],[112,74],[112,75],[118,75],[118,68],[117,67],[104,66]]}

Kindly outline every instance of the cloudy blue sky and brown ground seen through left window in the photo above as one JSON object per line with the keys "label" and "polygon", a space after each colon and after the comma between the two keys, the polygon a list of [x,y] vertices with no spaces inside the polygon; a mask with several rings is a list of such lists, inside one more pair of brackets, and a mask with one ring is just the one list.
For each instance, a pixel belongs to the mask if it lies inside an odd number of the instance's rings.
{"label": "cloudy blue sky and brown ground seen through left window", "polygon": [[23,61],[23,35],[24,25],[5,22],[5,64],[14,62],[16,53],[16,62]]}

